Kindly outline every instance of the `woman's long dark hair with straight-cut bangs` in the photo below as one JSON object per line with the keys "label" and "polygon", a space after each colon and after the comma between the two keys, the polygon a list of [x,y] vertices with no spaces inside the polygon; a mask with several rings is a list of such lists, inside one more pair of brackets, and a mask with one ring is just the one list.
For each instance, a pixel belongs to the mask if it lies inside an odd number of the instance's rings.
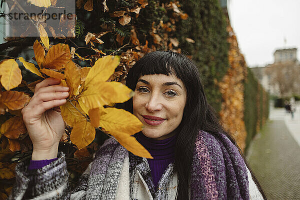
{"label": "woman's long dark hair with straight-cut bangs", "polygon": [[[177,199],[188,199],[193,147],[199,130],[210,134],[223,132],[232,143],[235,145],[236,143],[223,129],[213,109],[207,103],[197,66],[191,59],[172,51],[147,53],[129,70],[126,85],[135,90],[138,78],[149,74],[176,75],[186,88],[186,104],[182,120],[177,128],[175,167],[178,174]],[[125,109],[133,113],[132,98],[125,102]]]}

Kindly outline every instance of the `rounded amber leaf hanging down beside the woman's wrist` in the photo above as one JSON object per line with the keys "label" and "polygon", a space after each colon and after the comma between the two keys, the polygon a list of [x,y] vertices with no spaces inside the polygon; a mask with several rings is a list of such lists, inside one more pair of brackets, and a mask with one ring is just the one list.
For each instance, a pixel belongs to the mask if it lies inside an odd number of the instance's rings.
{"label": "rounded amber leaf hanging down beside the woman's wrist", "polygon": [[90,144],[95,138],[95,129],[89,121],[80,121],[73,126],[70,139],[80,150]]}

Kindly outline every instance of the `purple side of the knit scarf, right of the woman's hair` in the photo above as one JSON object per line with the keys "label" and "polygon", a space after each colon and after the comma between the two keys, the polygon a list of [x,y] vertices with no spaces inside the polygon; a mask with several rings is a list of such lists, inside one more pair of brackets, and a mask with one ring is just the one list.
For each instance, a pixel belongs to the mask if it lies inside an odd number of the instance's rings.
{"label": "purple side of the knit scarf, right of the woman's hair", "polygon": [[243,158],[225,134],[199,132],[191,165],[191,199],[249,199],[247,177]]}

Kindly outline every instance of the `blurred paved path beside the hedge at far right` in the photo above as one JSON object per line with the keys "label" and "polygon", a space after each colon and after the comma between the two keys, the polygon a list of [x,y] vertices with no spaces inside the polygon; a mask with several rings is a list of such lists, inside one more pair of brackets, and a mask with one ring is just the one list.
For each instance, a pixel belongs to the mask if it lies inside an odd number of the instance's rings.
{"label": "blurred paved path beside the hedge at far right", "polygon": [[282,108],[269,118],[247,159],[268,199],[300,199],[300,107],[294,119]]}

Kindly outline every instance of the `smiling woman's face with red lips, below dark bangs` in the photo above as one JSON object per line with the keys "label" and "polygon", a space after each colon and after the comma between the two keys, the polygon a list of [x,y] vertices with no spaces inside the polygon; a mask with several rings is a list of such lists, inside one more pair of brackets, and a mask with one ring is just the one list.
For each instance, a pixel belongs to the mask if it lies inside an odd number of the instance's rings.
{"label": "smiling woman's face with red lips, below dark bangs", "polygon": [[142,133],[165,139],[181,122],[186,89],[175,75],[153,74],[138,78],[133,100],[133,114],[143,123]]}

